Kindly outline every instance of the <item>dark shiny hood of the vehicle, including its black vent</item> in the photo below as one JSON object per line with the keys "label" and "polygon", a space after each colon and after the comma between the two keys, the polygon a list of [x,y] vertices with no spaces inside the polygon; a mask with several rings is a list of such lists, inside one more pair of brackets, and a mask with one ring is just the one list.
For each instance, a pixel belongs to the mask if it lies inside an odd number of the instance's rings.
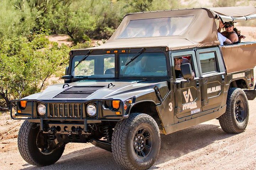
{"label": "dark shiny hood of the vehicle, including its black vent", "polygon": [[[108,85],[110,84],[110,87]],[[43,92],[27,96],[23,99],[41,101],[88,101],[94,99],[126,100],[132,96],[147,94],[154,87],[166,86],[164,82],[152,81],[79,81],[74,83],[54,84]]]}

